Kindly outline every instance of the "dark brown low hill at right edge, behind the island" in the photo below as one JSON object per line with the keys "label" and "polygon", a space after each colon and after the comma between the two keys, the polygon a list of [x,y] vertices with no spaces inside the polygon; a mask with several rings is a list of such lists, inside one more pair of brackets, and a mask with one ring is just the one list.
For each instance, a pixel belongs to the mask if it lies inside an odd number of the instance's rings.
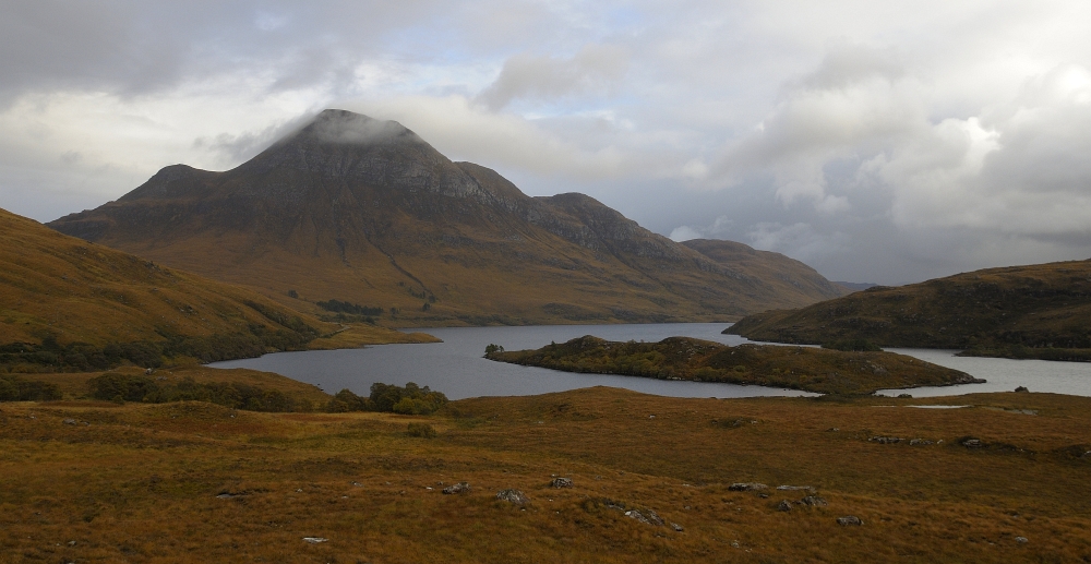
{"label": "dark brown low hill at right edge, behind the island", "polygon": [[878,286],[724,331],[754,340],[966,349],[966,355],[1091,360],[1091,261],[990,268]]}

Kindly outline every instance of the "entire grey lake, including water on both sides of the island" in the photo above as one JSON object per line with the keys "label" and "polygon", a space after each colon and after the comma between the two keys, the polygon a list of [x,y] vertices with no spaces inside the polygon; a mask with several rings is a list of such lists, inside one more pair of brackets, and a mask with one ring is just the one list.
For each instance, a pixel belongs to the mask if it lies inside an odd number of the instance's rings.
{"label": "entire grey lake, including water on both sides of the island", "polygon": [[[416,382],[443,392],[451,399],[478,396],[525,396],[590,386],[612,386],[645,394],[674,397],[810,396],[794,389],[740,386],[712,382],[676,382],[607,374],[575,374],[535,367],[485,360],[489,344],[507,350],[536,349],[550,341],[562,343],[584,335],[608,340],[658,341],[687,336],[726,345],[751,343],[738,335],[722,335],[730,324],[663,323],[646,325],[544,325],[520,327],[419,328],[443,343],[427,345],[379,345],[364,349],[277,352],[256,359],[230,360],[215,368],[249,368],[276,372],[316,384],[329,393],[348,388],[367,395],[371,384],[405,385]],[[961,358],[956,351],[888,349],[939,365],[961,370],[986,384],[888,389],[879,394],[914,397],[951,396],[980,392],[1010,392],[1027,386],[1032,392],[1091,396],[1091,363]]]}

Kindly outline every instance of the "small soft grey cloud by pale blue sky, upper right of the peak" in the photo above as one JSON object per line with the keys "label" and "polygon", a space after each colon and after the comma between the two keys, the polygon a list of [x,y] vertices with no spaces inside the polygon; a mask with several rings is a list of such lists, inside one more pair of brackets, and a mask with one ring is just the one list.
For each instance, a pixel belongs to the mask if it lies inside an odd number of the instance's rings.
{"label": "small soft grey cloud by pale blue sky, upper right of the peak", "polygon": [[516,98],[549,100],[603,92],[624,76],[627,67],[625,50],[609,45],[585,46],[571,59],[516,55],[504,62],[500,76],[478,100],[497,110]]}

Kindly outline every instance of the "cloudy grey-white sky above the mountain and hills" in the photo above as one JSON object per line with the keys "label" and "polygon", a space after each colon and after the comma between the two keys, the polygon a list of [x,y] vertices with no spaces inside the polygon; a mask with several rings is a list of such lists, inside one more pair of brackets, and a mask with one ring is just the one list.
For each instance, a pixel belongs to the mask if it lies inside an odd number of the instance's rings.
{"label": "cloudy grey-white sky above the mountain and hills", "polygon": [[0,207],[225,170],[338,107],[831,279],[1088,259],[1087,22],[1081,0],[0,0]]}

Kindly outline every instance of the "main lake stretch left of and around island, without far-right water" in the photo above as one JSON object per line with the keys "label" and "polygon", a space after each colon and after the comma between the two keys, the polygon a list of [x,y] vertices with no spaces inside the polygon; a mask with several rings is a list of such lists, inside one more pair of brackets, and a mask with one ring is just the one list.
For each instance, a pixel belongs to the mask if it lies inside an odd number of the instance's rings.
{"label": "main lake stretch left of and around island, without far-right water", "polygon": [[723,323],[660,323],[646,325],[538,325],[519,327],[415,328],[443,343],[377,345],[364,349],[276,352],[256,359],[229,360],[215,368],[249,368],[276,372],[317,384],[328,393],[343,388],[368,395],[371,384],[421,386],[443,392],[451,399],[478,396],[529,396],[591,386],[612,386],[645,394],[674,397],[812,396],[795,389],[740,386],[715,382],[678,382],[609,374],[575,374],[536,367],[520,367],[481,358],[489,344],[507,350],[537,349],[584,335],[608,340],[659,341],[687,336],[727,345],[748,343],[738,335],[721,335]]}

